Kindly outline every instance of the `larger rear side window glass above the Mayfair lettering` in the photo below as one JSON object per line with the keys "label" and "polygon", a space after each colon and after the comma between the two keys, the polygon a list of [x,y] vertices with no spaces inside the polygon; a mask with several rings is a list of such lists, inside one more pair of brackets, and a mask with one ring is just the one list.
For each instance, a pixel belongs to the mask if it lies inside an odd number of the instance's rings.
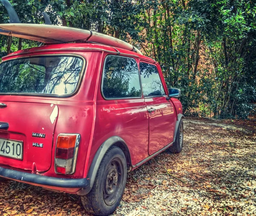
{"label": "larger rear side window glass above the Mayfair lettering", "polygon": [[141,97],[136,61],[132,58],[108,55],[103,71],[102,93],[106,99]]}

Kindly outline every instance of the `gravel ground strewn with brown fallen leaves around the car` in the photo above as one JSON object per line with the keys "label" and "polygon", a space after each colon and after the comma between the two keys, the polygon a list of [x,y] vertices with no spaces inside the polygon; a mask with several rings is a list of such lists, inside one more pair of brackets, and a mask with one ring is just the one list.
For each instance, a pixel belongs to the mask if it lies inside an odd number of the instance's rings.
{"label": "gravel ground strewn with brown fallen leaves around the car", "polygon": [[[129,173],[114,215],[256,215],[256,122],[185,120],[180,154]],[[83,215],[77,196],[0,182],[0,215]]]}

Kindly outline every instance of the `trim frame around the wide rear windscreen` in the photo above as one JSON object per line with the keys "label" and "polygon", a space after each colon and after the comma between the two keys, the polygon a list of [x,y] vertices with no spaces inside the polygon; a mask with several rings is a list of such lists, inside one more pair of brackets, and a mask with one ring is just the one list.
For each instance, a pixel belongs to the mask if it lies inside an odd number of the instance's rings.
{"label": "trim frame around the wide rear windscreen", "polygon": [[77,57],[77,58],[80,58],[82,61],[83,61],[83,66],[82,66],[82,69],[81,69],[81,74],[79,76],[79,80],[77,82],[77,85],[76,85],[76,89],[73,93],[71,94],[66,94],[66,95],[58,95],[58,94],[41,94],[41,93],[0,93],[0,95],[14,95],[14,96],[34,96],[34,97],[54,97],[54,98],[67,98],[67,97],[72,97],[74,96],[75,94],[78,93],[80,87],[81,87],[81,82],[84,78],[84,73],[85,73],[85,70],[86,70],[86,67],[87,67],[87,60],[85,59],[84,56],[80,55],[80,54],[69,54],[69,53],[59,53],[59,54],[39,54],[39,55],[26,55],[26,56],[22,56],[22,57],[17,57],[17,58],[12,58],[12,59],[9,59],[9,60],[4,60],[2,61],[0,64],[2,63],[5,63],[5,62],[9,62],[9,61],[13,61],[13,60],[17,60],[17,59],[26,59],[26,58],[33,58],[33,57],[41,57],[41,56],[44,56],[44,57],[51,57],[51,56],[59,56],[59,57],[62,57],[62,56],[67,56],[67,57]]}

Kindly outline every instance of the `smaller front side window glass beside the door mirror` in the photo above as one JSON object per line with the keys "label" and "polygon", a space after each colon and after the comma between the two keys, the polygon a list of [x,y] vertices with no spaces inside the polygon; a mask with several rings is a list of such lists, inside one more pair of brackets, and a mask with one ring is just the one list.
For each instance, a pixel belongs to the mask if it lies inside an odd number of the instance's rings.
{"label": "smaller front side window glass beside the door mirror", "polygon": [[144,97],[165,95],[163,83],[155,65],[141,62],[140,80]]}

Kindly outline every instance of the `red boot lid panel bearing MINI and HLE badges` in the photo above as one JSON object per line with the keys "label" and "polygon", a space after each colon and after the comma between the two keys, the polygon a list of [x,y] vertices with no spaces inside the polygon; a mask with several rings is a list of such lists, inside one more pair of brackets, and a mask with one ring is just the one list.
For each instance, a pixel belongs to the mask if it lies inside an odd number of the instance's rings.
{"label": "red boot lid panel bearing MINI and HLE badges", "polygon": [[[1,109],[0,118],[1,121],[9,123],[9,129],[1,130],[0,137],[22,141],[23,159],[0,156],[0,164],[32,170],[32,165],[35,163],[36,171],[49,170],[52,162],[52,139],[58,117],[58,106],[52,103],[22,102],[22,100],[20,102],[1,100],[1,102],[7,107]],[[54,110],[57,113],[54,121],[51,122],[50,116]],[[44,134],[45,137],[35,137],[32,133]],[[43,144],[43,148],[35,147],[33,143]]]}

